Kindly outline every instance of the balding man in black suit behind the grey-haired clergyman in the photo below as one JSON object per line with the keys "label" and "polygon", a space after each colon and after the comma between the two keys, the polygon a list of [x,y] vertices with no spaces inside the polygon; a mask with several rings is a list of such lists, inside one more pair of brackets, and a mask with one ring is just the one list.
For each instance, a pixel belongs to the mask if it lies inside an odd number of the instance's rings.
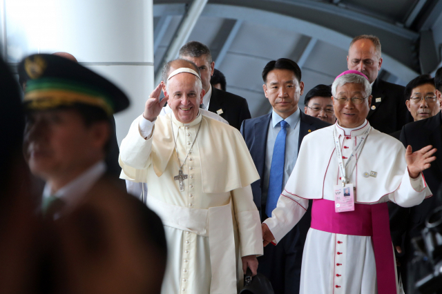
{"label": "balding man in black suit behind the grey-haired clergyman", "polygon": [[412,121],[405,106],[405,88],[378,78],[381,70],[381,41],[373,35],[355,37],[347,55],[349,70],[363,72],[372,84],[372,105],[367,115],[370,125],[376,130],[391,134]]}

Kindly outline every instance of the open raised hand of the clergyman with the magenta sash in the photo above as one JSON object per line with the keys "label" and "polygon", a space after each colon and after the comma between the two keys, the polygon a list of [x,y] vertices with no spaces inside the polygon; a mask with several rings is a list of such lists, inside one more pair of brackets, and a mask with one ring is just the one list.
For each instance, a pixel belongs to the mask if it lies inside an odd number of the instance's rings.
{"label": "open raised hand of the clergyman with the magenta sash", "polygon": [[432,147],[433,146],[428,145],[421,150],[413,152],[412,146],[407,146],[407,150],[405,151],[405,160],[407,161],[408,173],[410,174],[410,177],[419,177],[419,173],[427,168],[430,168],[430,162],[436,160],[436,157],[432,155],[434,155],[437,149]]}

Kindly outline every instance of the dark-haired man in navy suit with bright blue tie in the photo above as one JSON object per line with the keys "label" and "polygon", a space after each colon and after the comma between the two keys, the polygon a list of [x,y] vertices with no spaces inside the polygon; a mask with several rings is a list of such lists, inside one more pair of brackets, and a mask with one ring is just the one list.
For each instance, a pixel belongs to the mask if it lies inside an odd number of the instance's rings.
{"label": "dark-haired man in navy suit with bright blue tie", "polygon": [[[262,79],[265,96],[273,110],[268,115],[243,121],[241,133],[260,175],[260,180],[251,184],[251,188],[253,201],[264,221],[271,216],[295,166],[302,138],[329,124],[305,115],[298,108],[304,83],[296,62],[285,58],[270,61],[262,71]],[[264,255],[258,257],[258,272],[269,278],[275,293],[299,293],[302,250],[311,222],[310,207],[277,246],[265,247]]]}

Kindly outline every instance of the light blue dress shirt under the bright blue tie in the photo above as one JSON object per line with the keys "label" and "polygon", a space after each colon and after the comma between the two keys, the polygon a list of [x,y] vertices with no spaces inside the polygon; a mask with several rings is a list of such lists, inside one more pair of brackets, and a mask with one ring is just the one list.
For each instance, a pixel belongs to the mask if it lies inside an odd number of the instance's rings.
{"label": "light blue dress shirt under the bright blue tie", "polygon": [[275,110],[271,112],[271,120],[269,131],[267,132],[267,148],[265,152],[265,170],[264,170],[264,188],[262,189],[261,203],[265,204],[267,201],[267,190],[269,189],[270,167],[271,159],[273,158],[273,148],[275,146],[276,136],[281,130],[280,121],[285,120],[287,124],[287,137],[285,139],[285,159],[284,159],[284,179],[282,179],[282,187],[285,186],[289,180],[291,171],[293,170],[296,159],[298,158],[298,143],[299,143],[299,124],[300,124],[300,110],[296,110],[287,119],[282,119]]}

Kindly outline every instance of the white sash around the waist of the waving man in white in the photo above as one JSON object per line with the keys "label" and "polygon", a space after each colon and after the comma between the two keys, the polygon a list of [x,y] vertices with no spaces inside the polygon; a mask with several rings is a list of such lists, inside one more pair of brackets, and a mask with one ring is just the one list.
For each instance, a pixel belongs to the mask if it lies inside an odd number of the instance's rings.
{"label": "white sash around the waist of the waving man in white", "polygon": [[210,293],[236,293],[236,254],[231,203],[209,209],[166,204],[148,195],[146,204],[160,216],[164,226],[209,237]]}

